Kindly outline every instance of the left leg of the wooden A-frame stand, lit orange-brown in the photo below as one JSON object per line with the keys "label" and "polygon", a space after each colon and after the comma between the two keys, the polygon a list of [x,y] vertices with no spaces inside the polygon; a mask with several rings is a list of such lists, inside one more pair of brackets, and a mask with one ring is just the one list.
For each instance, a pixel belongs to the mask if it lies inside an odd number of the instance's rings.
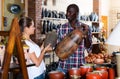
{"label": "left leg of the wooden A-frame stand, lit orange-brown", "polygon": [[16,19],[13,20],[12,27],[10,29],[8,44],[5,51],[5,56],[3,60],[3,66],[2,66],[2,70],[3,70],[2,79],[8,79],[9,66],[10,66],[11,56],[12,56],[13,48],[15,44],[15,33],[16,33],[15,25],[16,25]]}

